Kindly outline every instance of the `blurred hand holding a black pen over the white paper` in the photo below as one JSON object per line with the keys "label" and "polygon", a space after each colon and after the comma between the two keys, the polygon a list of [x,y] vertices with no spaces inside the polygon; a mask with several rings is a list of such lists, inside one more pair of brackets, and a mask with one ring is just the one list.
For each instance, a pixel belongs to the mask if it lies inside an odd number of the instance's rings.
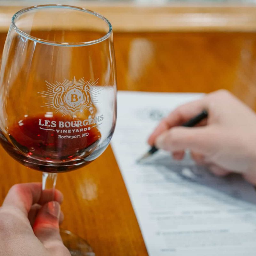
{"label": "blurred hand holding a black pen over the white paper", "polygon": [[[195,127],[181,126],[207,109],[208,118]],[[198,164],[216,175],[242,173],[256,184],[256,115],[231,93],[221,90],[184,104],[164,118],[148,144],[181,160],[189,149]]]}

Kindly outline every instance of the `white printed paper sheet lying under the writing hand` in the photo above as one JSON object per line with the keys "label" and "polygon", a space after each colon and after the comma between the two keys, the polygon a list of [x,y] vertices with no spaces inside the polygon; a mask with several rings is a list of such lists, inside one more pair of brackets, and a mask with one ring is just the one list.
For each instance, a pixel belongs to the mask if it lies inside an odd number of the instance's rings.
{"label": "white printed paper sheet lying under the writing hand", "polygon": [[240,176],[218,178],[186,156],[157,152],[136,164],[159,119],[202,94],[118,92],[112,149],[150,256],[256,255],[256,193]]}

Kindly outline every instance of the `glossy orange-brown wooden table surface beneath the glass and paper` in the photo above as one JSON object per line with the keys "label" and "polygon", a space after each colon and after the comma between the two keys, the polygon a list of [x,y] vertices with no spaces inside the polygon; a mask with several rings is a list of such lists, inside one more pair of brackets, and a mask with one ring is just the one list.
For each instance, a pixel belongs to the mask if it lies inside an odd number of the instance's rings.
{"label": "glossy orange-brown wooden table surface beneath the glass and paper", "polygon": [[[6,34],[0,33],[0,51]],[[256,34],[114,33],[119,90],[211,92],[226,88],[252,108],[256,96]],[[0,148],[0,204],[15,183],[41,173]],[[86,239],[96,256],[148,255],[124,181],[109,146],[91,164],[59,174],[62,227]]]}

